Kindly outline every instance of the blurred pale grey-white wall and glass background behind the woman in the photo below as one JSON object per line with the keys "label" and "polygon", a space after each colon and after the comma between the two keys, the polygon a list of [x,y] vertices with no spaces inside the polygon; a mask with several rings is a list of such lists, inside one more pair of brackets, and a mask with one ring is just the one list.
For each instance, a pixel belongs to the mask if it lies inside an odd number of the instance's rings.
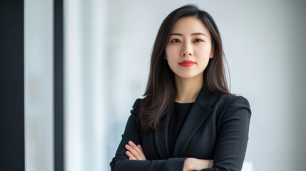
{"label": "blurred pale grey-white wall and glass background behind the woman", "polygon": [[[306,169],[306,1],[63,0],[63,170],[109,162],[148,79],[165,16],[213,16],[231,92],[252,108],[245,171]],[[55,170],[53,1],[24,1],[26,170]]]}

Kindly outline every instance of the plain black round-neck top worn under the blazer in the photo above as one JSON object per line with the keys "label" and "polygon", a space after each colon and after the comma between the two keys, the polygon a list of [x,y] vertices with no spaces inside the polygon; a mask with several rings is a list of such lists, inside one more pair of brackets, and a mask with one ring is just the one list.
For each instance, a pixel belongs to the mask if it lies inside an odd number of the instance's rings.
{"label": "plain black round-neck top worn under the blazer", "polygon": [[170,157],[173,157],[173,149],[183,127],[185,118],[187,117],[193,103],[177,103],[174,102],[174,108],[170,115],[169,127],[168,127],[168,148]]}

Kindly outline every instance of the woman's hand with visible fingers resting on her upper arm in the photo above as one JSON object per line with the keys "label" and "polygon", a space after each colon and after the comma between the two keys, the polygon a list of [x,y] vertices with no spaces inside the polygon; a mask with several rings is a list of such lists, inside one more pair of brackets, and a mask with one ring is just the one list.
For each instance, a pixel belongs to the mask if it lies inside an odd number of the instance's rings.
{"label": "woman's hand with visible fingers resting on her upper arm", "polygon": [[126,145],[126,155],[128,155],[129,160],[147,160],[145,154],[143,154],[143,147],[141,145],[136,145],[131,140],[128,141]]}

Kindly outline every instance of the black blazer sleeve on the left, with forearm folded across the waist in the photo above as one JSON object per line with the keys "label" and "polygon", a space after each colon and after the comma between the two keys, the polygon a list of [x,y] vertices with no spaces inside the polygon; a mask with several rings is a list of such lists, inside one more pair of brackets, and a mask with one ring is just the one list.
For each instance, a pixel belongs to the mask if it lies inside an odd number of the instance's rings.
{"label": "black blazer sleeve on the left, with forearm folded across the waist", "polygon": [[[183,170],[183,165],[187,157],[181,158],[169,158],[168,160],[128,160],[126,155],[126,147],[129,140],[135,142],[135,144],[141,144],[141,132],[140,126],[137,121],[138,116],[138,106],[141,99],[137,99],[133,105],[133,110],[131,110],[131,115],[126,123],[126,129],[122,135],[121,142],[116,151],[115,157],[110,163],[111,170],[124,170],[124,171],[134,171],[134,170],[169,170],[177,171]],[[142,144],[141,144],[142,145]]]}

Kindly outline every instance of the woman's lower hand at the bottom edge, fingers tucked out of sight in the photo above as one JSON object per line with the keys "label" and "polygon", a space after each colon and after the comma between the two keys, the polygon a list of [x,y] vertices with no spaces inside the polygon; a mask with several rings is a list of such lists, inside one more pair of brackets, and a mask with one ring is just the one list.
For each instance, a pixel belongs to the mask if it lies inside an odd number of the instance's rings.
{"label": "woman's lower hand at the bottom edge, fingers tucked out of sight", "polygon": [[183,171],[203,170],[213,167],[213,160],[202,160],[197,158],[187,158],[184,162]]}

